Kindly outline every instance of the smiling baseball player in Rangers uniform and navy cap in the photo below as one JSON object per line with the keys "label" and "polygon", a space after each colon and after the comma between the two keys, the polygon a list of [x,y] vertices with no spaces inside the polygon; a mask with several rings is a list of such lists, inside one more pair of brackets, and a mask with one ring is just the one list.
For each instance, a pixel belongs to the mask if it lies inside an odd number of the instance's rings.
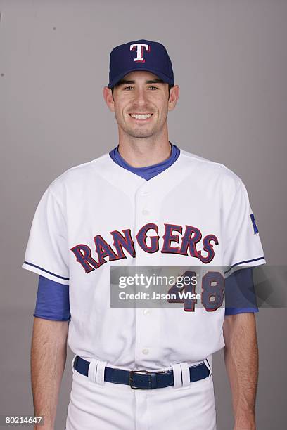
{"label": "smiling baseball player in Rangers uniform and navy cap", "polygon": [[169,141],[179,86],[162,44],[113,48],[103,97],[118,145],[49,185],[23,263],[39,275],[32,389],[41,428],[54,429],[68,337],[66,430],[216,429],[212,353],[223,347],[234,430],[254,430],[256,306],[110,306],[112,266],[226,266],[250,287],[252,266],[265,260],[245,185]]}

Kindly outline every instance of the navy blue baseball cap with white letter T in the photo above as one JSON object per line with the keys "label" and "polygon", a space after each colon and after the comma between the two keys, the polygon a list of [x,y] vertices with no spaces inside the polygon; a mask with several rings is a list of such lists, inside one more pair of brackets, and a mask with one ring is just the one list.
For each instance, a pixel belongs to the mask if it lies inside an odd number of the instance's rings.
{"label": "navy blue baseball cap with white letter T", "polygon": [[125,74],[136,70],[146,70],[174,85],[172,62],[165,46],[159,42],[140,39],[113,48],[108,88],[113,88]]}

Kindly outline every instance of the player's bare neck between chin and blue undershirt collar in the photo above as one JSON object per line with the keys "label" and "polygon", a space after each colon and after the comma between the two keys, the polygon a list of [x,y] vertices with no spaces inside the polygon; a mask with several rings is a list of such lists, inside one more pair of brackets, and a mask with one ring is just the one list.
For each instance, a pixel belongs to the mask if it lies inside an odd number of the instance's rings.
{"label": "player's bare neck between chin and blue undershirt collar", "polygon": [[147,167],[165,161],[171,154],[167,129],[160,136],[134,138],[121,133],[119,129],[118,151],[132,167]]}

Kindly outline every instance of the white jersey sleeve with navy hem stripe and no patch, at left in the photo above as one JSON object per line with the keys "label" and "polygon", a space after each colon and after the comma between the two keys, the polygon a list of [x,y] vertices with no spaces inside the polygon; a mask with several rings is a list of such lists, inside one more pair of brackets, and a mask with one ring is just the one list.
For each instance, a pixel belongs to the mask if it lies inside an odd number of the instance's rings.
{"label": "white jersey sleeve with navy hem stripe and no patch, at left", "polygon": [[55,282],[69,284],[65,213],[50,187],[35,211],[22,267]]}

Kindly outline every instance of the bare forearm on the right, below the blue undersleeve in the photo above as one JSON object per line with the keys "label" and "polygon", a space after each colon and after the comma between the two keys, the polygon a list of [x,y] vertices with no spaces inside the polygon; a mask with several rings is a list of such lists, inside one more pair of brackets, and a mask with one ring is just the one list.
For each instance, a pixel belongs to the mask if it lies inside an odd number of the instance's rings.
{"label": "bare forearm on the right, below the blue undersleeve", "polygon": [[254,313],[224,318],[224,360],[231,386],[234,430],[255,430],[258,348]]}

